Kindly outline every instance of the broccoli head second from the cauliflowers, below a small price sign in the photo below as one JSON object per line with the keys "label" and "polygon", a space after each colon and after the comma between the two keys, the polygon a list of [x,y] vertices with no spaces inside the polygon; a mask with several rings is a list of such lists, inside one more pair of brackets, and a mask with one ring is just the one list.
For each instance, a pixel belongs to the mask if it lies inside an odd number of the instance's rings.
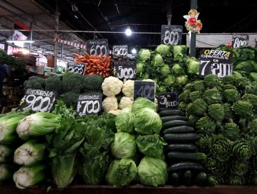
{"label": "broccoli head second from the cauliflowers, below a small price sign", "polygon": [[83,76],[77,73],[63,76],[63,91],[73,91],[79,94],[83,89],[82,80]]}

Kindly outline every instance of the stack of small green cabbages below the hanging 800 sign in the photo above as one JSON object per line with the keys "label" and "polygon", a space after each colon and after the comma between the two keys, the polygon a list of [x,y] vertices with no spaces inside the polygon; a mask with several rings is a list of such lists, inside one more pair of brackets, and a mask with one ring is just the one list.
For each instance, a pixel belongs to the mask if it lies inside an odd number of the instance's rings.
{"label": "stack of small green cabbages below the hanging 800 sign", "polygon": [[189,58],[187,47],[160,44],[155,51],[142,48],[138,53],[137,78],[152,79],[158,87],[157,94],[166,91],[182,91],[199,73],[199,61]]}

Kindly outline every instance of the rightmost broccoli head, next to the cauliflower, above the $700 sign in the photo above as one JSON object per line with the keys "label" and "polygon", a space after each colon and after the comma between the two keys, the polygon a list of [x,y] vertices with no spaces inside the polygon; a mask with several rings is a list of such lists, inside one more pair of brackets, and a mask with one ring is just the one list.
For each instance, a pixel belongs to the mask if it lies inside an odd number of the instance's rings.
{"label": "rightmost broccoli head, next to the cauliflower, above the $700 sign", "polygon": [[103,78],[99,75],[88,75],[83,78],[84,91],[101,91]]}

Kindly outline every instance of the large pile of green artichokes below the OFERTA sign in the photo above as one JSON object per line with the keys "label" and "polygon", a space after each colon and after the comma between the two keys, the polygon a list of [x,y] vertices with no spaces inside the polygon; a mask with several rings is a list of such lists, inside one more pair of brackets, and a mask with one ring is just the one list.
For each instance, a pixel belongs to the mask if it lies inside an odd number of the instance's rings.
{"label": "large pile of green artichokes below the OFERTA sign", "polygon": [[179,109],[201,136],[210,184],[256,184],[257,82],[208,75],[185,85]]}

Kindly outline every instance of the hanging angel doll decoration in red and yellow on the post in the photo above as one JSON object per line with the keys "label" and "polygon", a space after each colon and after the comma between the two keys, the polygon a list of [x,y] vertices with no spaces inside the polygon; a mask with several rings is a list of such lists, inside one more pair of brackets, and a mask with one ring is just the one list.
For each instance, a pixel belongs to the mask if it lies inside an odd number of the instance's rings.
{"label": "hanging angel doll decoration in red and yellow on the post", "polygon": [[185,28],[191,33],[200,33],[201,27],[201,20],[197,19],[199,16],[199,12],[197,10],[191,9],[188,12],[188,15],[184,15],[183,17],[187,20],[185,21]]}

